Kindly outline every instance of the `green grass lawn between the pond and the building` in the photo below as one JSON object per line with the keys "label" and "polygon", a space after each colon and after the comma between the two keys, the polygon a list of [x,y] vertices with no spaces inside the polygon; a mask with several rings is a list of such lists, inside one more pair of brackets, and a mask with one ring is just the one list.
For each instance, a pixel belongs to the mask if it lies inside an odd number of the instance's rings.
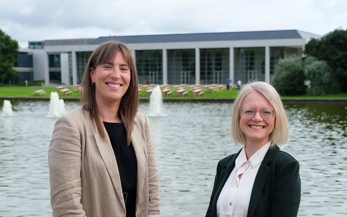
{"label": "green grass lawn between the pond and the building", "polygon": [[[59,96],[61,98],[79,98],[80,93],[73,88],[69,88],[72,91],[71,95],[68,96]],[[34,91],[44,90],[46,94],[41,96],[34,96]],[[14,98],[50,98],[51,92],[56,92],[55,87],[23,87],[23,86],[15,86],[15,85],[0,85],[0,97],[14,97]],[[177,97],[176,93],[173,92],[171,96],[163,97],[166,98],[203,98],[203,99],[234,99],[237,95],[236,90],[228,90],[222,92],[204,92],[203,96],[193,97],[192,92],[188,92],[188,94],[184,97]],[[145,91],[141,91],[140,98],[149,98],[146,96]],[[347,93],[343,94],[329,94],[324,96],[281,96],[282,99],[347,99]]]}

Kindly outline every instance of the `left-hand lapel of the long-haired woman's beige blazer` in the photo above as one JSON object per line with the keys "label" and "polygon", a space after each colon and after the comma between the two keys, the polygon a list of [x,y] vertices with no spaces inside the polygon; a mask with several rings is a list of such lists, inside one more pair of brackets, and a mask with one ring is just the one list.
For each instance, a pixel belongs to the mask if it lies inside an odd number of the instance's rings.
{"label": "left-hand lapel of the long-haired woman's beige blazer", "polygon": [[[106,165],[106,168],[110,174],[112,183],[116,189],[116,193],[117,193],[117,196],[120,200],[120,203],[122,204],[122,206],[125,210],[125,204],[124,204],[123,192],[122,192],[121,184],[120,184],[120,176],[119,176],[116,156],[115,156],[115,153],[112,149],[110,138],[109,138],[109,136],[106,136],[106,141],[105,141],[102,138],[101,134],[98,132],[96,127],[95,127],[95,129],[96,129],[96,133],[94,133],[94,137],[95,137],[95,141],[96,141],[96,144],[98,146],[100,155],[103,158],[103,161]],[[106,132],[105,127],[104,127],[104,130]]]}

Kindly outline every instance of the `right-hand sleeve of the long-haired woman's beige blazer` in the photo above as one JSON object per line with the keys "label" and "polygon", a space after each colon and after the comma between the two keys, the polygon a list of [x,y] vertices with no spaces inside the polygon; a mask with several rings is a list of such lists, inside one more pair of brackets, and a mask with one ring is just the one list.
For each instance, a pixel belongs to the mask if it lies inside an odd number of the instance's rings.
{"label": "right-hand sleeve of the long-haired woman's beige blazer", "polygon": [[152,133],[150,129],[149,119],[145,115],[145,134],[148,155],[148,216],[160,216],[160,196],[159,196],[159,171],[155,149],[153,144]]}

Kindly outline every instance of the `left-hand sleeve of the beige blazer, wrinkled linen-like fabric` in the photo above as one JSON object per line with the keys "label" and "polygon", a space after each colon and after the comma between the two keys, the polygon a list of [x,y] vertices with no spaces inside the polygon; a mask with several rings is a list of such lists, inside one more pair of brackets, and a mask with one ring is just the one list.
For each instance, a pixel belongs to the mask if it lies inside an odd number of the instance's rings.
{"label": "left-hand sleeve of the beige blazer, wrinkled linen-like fabric", "polygon": [[85,217],[81,204],[81,138],[68,116],[59,117],[55,124],[48,163],[53,217]]}

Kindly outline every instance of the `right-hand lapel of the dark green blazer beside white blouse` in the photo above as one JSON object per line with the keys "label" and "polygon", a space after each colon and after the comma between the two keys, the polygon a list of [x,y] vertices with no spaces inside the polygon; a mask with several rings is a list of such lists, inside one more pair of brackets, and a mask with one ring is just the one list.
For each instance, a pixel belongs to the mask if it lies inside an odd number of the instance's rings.
{"label": "right-hand lapel of the dark green blazer beside white blouse", "polygon": [[263,188],[266,182],[266,177],[268,176],[268,173],[270,171],[270,164],[272,162],[272,159],[274,158],[274,156],[279,150],[280,148],[277,145],[274,148],[269,149],[266,155],[264,156],[262,163],[260,164],[257,175],[255,176],[255,180],[254,180],[254,184],[252,188],[247,217],[252,217],[254,215],[259,198],[261,196],[261,192],[263,191]]}

